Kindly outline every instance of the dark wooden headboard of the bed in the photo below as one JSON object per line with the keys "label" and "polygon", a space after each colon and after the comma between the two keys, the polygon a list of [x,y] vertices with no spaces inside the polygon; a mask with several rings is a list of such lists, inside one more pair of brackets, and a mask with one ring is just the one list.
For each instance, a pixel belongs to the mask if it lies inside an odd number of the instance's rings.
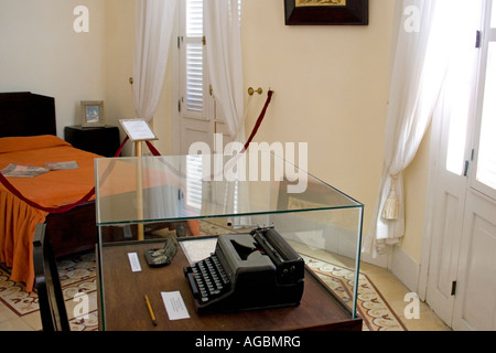
{"label": "dark wooden headboard of the bed", "polygon": [[30,92],[0,93],[0,137],[57,135],[55,99]]}

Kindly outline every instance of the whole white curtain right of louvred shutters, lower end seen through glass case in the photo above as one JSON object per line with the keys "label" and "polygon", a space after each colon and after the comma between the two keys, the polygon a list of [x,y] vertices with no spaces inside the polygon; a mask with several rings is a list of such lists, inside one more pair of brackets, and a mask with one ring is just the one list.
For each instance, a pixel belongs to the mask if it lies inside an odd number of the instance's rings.
{"label": "whole white curtain right of louvred shutters, lower end seen through glass case", "polygon": [[[238,153],[246,138],[240,6],[239,0],[204,0],[205,51],[217,114],[224,117],[231,141],[238,142]],[[242,158],[231,161],[242,162]],[[226,163],[225,168],[229,169],[230,164]],[[227,200],[224,202],[226,213],[236,215],[249,212],[247,183],[227,182],[215,192]],[[237,217],[230,222],[242,226],[250,224],[250,218]]]}

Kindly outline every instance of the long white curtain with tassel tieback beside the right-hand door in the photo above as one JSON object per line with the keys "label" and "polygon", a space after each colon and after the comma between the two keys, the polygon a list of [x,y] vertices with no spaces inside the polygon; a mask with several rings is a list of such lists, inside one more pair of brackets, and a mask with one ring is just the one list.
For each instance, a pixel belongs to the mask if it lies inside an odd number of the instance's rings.
{"label": "long white curtain with tassel tieback beside the right-hand door", "polygon": [[445,77],[450,43],[440,19],[451,6],[452,0],[397,1],[384,171],[363,247],[374,257],[405,235],[402,172],[422,141]]}

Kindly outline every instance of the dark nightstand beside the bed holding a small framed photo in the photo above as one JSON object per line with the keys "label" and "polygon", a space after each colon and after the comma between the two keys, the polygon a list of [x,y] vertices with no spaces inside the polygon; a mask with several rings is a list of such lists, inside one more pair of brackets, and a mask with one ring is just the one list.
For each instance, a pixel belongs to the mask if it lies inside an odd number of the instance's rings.
{"label": "dark nightstand beside the bed holding a small framed photo", "polygon": [[65,140],[73,147],[104,157],[114,157],[120,146],[119,128],[116,126],[83,128],[66,126]]}

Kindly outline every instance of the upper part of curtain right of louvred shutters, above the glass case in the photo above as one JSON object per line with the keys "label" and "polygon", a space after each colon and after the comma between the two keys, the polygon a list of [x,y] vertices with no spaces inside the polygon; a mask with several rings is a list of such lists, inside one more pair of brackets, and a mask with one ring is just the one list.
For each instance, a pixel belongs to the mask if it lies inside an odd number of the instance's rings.
{"label": "upper part of curtain right of louvred shutters, above the glass case", "polygon": [[205,0],[206,58],[217,109],[233,140],[244,142],[241,19],[239,0]]}

